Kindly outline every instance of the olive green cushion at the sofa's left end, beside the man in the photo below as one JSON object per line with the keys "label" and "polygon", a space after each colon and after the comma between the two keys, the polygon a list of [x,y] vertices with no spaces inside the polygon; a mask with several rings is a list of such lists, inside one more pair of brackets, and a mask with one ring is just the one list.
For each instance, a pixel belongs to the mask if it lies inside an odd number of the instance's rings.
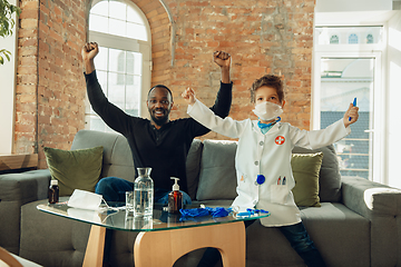
{"label": "olive green cushion at the sofa's left end, beside the man", "polygon": [[102,150],[101,146],[72,151],[43,148],[51,178],[59,181],[60,196],[70,196],[75,189],[95,191],[101,171]]}

